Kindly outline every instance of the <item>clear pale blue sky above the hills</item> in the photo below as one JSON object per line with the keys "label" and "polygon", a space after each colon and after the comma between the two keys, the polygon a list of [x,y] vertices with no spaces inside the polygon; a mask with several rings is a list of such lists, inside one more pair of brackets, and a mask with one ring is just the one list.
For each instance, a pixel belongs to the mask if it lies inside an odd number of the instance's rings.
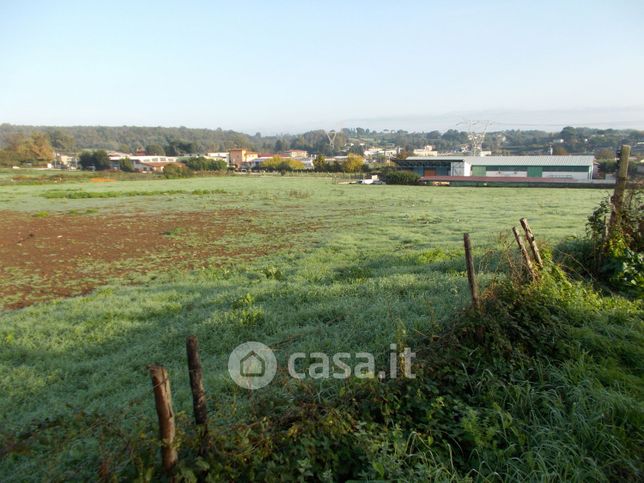
{"label": "clear pale blue sky above the hills", "polygon": [[0,123],[644,129],[644,2],[0,0]]}

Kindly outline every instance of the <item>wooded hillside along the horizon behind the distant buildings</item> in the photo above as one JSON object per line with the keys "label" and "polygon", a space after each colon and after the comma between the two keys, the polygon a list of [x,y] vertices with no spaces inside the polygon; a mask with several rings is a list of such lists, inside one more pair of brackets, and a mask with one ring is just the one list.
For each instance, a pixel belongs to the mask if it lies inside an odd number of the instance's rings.
{"label": "wooded hillside along the horizon behind the distant buildings", "polygon": [[[183,151],[204,153],[226,151],[235,147],[261,152],[277,152],[286,149],[306,149],[312,153],[338,154],[346,151],[348,144],[355,146],[399,146],[407,150],[425,145],[434,146],[441,152],[458,151],[468,143],[467,133],[450,129],[445,132],[372,131],[355,128],[343,129],[335,138],[332,150],[325,131],[308,131],[302,134],[262,136],[249,135],[232,130],[190,129],[186,127],[138,127],[138,126],[17,126],[0,125],[0,147],[7,145],[11,136],[42,131],[49,135],[54,148],[61,152],[101,148],[133,152],[137,149],[173,149],[181,146]],[[566,127],[560,132],[538,130],[508,130],[488,133],[483,149],[497,154],[543,154],[551,147],[560,153],[593,154],[602,149],[615,150],[622,143],[636,146],[644,142],[644,131],[591,129]],[[644,146],[640,145],[640,146]],[[171,154],[171,153],[168,153]]]}

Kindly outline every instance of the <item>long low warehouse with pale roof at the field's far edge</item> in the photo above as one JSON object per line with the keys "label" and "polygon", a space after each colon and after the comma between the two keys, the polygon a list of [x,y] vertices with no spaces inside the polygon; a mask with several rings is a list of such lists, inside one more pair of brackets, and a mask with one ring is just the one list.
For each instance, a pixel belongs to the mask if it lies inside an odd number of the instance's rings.
{"label": "long low warehouse with pale roof at the field's far edge", "polygon": [[538,178],[589,181],[593,156],[412,156],[396,161],[431,180],[444,177]]}

